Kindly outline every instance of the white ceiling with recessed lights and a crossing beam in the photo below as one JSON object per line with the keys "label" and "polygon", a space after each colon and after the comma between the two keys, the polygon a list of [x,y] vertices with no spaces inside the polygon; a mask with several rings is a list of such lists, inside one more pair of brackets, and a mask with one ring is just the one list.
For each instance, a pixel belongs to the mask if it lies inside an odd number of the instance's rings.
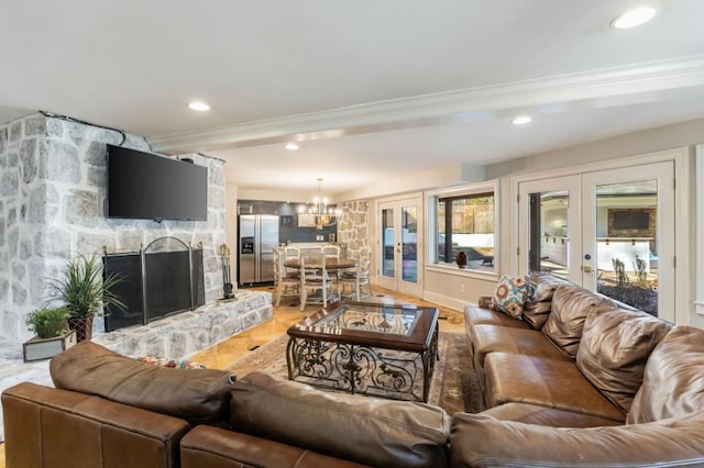
{"label": "white ceiling with recessed lights and a crossing beam", "polygon": [[[349,191],[704,118],[702,0],[6,3],[0,122],[144,135],[241,189]],[[651,22],[609,27],[641,4]]]}

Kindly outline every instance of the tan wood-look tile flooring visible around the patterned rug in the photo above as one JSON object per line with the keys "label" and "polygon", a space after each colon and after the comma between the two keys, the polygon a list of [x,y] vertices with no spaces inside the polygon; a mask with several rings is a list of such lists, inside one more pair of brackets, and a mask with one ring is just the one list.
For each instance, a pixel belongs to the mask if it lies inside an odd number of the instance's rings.
{"label": "tan wood-look tile flooring visible around the patterned rug", "polygon": [[[257,290],[272,291],[271,287],[254,288]],[[374,287],[373,301],[392,299],[395,302],[413,303],[417,305],[437,307],[440,311],[439,326],[442,331],[464,331],[464,317],[461,312],[452,309],[447,309],[435,304],[432,302],[424,301],[421,299],[399,294],[394,291]],[[365,301],[369,299],[365,299]],[[257,346],[265,345],[270,341],[286,333],[289,326],[298,323],[307,315],[317,312],[319,305],[308,305],[304,312],[299,310],[298,301],[292,298],[283,298],[280,307],[274,307],[274,314],[272,320],[256,325],[243,333],[240,333],[222,343],[219,343],[210,348],[204,349],[200,353],[190,357],[193,360],[202,363],[208,368],[222,369],[231,363],[235,361],[240,357],[250,353]],[[4,444],[0,444],[0,468],[6,468],[4,464]]]}

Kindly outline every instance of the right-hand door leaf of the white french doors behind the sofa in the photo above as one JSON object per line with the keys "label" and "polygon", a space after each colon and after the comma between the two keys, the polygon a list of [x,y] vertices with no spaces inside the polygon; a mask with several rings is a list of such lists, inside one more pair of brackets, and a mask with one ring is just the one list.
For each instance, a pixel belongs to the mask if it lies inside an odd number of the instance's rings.
{"label": "right-hand door leaf of the white french doors behind the sofa", "polygon": [[583,176],[585,212],[591,213],[584,225],[590,243],[583,283],[674,321],[672,180],[672,163]]}

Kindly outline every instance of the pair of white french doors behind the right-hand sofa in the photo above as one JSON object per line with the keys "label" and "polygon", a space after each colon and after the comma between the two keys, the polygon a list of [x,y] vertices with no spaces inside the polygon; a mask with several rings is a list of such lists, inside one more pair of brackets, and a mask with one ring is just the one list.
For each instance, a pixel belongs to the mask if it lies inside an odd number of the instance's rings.
{"label": "pair of white french doors behind the right-hand sofa", "polygon": [[519,183],[519,269],[674,322],[674,164]]}

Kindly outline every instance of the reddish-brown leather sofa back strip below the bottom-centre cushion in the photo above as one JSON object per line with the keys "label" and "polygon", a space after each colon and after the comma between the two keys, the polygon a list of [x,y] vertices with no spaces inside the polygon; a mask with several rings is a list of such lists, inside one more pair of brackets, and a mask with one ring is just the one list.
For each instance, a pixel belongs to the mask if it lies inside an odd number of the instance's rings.
{"label": "reddish-brown leather sofa back strip below the bottom-centre cushion", "polygon": [[180,444],[182,468],[257,466],[362,468],[352,461],[219,427],[197,426]]}

